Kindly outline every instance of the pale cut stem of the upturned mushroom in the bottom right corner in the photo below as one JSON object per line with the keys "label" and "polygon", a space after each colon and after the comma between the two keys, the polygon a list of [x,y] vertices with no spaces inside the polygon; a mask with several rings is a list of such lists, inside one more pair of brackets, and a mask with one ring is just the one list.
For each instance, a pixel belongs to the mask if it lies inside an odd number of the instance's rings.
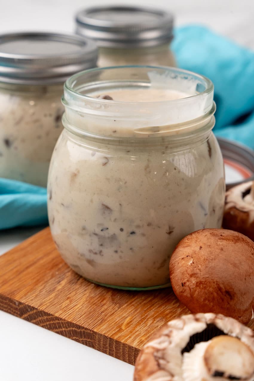
{"label": "pale cut stem of the upturned mushroom in the bottom right corner", "polygon": [[238,338],[216,336],[184,353],[182,374],[184,381],[252,381],[254,354]]}

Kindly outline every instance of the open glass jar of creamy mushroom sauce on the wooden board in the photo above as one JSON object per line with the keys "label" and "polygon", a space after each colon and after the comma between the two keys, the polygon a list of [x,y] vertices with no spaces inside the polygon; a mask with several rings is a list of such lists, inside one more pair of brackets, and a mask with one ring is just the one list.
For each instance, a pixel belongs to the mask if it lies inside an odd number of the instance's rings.
{"label": "open glass jar of creamy mushroom sauce on the wooden board", "polygon": [[63,103],[48,179],[62,258],[101,285],[168,286],[179,240],[222,223],[211,81],[166,67],[93,69],[67,80]]}

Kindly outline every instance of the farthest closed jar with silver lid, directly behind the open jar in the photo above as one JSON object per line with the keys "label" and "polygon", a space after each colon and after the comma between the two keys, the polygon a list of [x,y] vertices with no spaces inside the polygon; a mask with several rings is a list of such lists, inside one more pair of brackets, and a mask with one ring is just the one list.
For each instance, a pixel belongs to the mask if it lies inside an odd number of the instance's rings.
{"label": "farthest closed jar with silver lid, directly behind the open jar", "polygon": [[176,66],[170,50],[171,13],[134,6],[97,6],[78,12],[76,32],[99,47],[98,66]]}

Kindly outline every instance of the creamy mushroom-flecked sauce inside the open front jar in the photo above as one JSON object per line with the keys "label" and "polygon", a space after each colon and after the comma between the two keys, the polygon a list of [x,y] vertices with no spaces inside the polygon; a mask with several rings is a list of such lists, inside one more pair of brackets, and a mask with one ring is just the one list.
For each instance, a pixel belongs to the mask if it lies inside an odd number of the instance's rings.
{"label": "creamy mushroom-flecked sauce inside the open front jar", "polygon": [[[97,93],[106,94],[117,101],[184,96],[160,89]],[[67,118],[80,129],[118,137],[133,136],[138,124],[113,115],[69,112]],[[64,260],[87,279],[120,287],[166,285],[179,240],[221,227],[224,170],[213,134],[178,152],[160,139],[149,147],[107,139],[84,146],[67,131],[59,138],[48,182],[50,227]]]}

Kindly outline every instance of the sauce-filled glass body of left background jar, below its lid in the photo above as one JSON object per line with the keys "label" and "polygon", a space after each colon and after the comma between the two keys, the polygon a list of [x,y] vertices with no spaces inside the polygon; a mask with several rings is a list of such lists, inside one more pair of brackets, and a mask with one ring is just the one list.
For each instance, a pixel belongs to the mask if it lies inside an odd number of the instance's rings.
{"label": "sauce-filled glass body of left background jar, below its lid", "polygon": [[0,84],[0,177],[46,186],[63,86]]}

